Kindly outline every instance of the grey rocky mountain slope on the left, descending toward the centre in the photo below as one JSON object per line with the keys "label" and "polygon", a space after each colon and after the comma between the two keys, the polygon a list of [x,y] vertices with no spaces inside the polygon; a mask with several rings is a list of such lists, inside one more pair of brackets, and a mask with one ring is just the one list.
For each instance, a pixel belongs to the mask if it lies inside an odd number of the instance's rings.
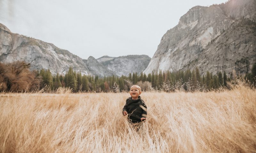
{"label": "grey rocky mountain slope on the left, descending toward the centre", "polygon": [[53,74],[65,74],[70,66],[83,74],[91,74],[83,60],[53,44],[11,33],[0,28],[0,61],[25,61],[31,69],[50,69]]}

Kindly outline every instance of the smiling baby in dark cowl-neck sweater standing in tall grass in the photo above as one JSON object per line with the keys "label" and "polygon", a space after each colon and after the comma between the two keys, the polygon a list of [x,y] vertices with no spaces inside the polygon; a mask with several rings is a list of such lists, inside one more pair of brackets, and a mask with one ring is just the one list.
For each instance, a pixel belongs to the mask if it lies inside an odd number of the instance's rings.
{"label": "smiling baby in dark cowl-neck sweater standing in tall grass", "polygon": [[140,86],[132,85],[130,89],[131,97],[126,99],[126,103],[123,108],[123,115],[125,116],[128,114],[128,119],[132,123],[139,123],[146,120],[147,117],[147,106],[139,96],[140,94]]}

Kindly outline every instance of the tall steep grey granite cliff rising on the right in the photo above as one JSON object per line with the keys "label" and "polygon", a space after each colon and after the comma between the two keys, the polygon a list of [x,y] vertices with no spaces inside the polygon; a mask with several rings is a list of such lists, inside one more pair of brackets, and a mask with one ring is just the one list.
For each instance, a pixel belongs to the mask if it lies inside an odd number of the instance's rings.
{"label": "tall steep grey granite cliff rising on the right", "polygon": [[255,8],[255,0],[191,8],[164,34],[144,73],[196,67],[201,74],[250,71],[256,62]]}

